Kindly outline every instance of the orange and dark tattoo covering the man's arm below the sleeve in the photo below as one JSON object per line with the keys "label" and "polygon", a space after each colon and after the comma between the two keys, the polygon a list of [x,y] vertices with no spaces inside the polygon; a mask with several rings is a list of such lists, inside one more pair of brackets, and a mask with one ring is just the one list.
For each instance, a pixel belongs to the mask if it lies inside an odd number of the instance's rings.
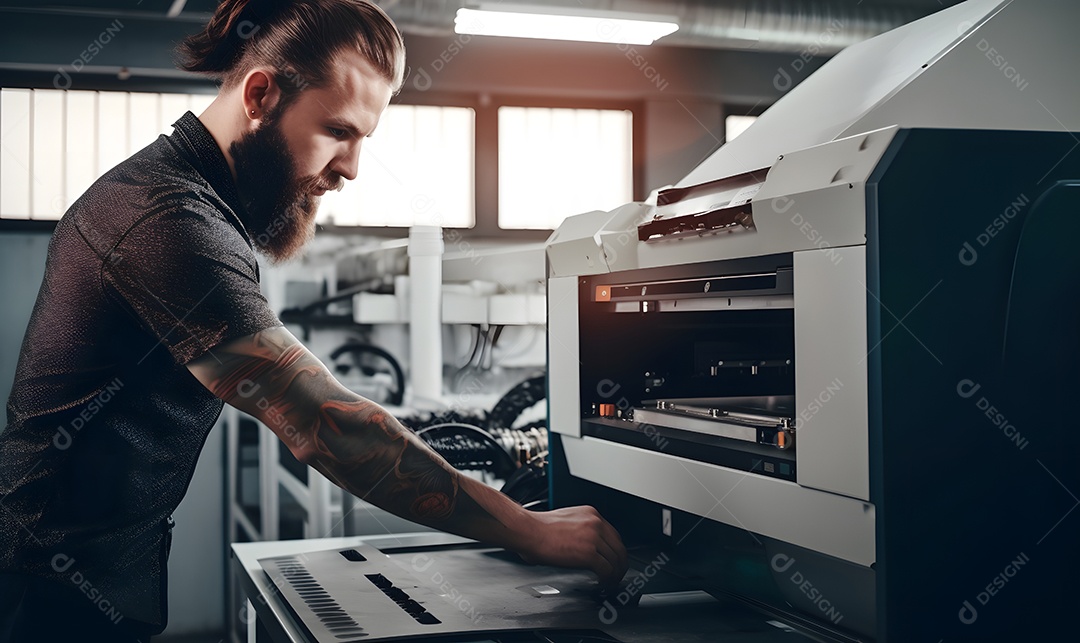
{"label": "orange and dark tattoo covering the man's arm below the sleeve", "polygon": [[192,364],[207,388],[258,417],[301,461],[342,488],[456,533],[503,527],[462,492],[458,471],[378,404],[342,387],[284,329],[214,352]]}

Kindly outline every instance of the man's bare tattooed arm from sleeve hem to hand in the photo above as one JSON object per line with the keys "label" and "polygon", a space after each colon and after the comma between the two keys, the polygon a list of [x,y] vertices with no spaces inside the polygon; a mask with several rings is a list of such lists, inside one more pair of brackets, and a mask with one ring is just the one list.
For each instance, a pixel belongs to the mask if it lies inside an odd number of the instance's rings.
{"label": "man's bare tattooed arm from sleeve hem to hand", "polygon": [[538,563],[626,571],[619,534],[592,507],[531,512],[461,475],[381,406],[341,386],[284,327],[228,341],[188,364],[215,396],[270,427],[301,463],[396,515]]}

